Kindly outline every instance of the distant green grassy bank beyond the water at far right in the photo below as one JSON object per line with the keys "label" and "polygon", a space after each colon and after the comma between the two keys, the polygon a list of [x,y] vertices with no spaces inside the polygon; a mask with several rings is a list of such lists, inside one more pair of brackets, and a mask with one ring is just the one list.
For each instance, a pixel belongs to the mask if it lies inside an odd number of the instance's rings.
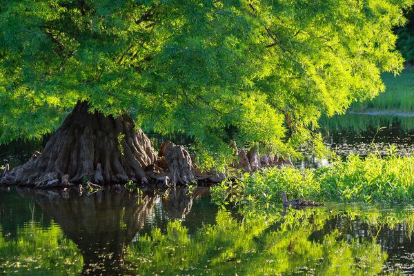
{"label": "distant green grassy bank beyond the water at far right", "polygon": [[399,112],[414,111],[414,68],[406,68],[401,75],[394,77],[391,73],[382,75],[386,91],[375,99],[367,99],[362,103],[353,103],[354,112],[368,110],[396,110]]}

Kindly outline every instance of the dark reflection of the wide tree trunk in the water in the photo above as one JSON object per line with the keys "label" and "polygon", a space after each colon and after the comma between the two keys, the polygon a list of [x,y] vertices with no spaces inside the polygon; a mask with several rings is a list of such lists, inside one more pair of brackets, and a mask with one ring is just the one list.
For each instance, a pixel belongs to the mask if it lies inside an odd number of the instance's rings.
{"label": "dark reflection of the wide tree trunk in the water", "polygon": [[83,256],[83,274],[121,273],[126,246],[150,215],[155,198],[138,197],[122,191],[101,190],[89,196],[21,189],[19,193],[34,197],[77,244]]}

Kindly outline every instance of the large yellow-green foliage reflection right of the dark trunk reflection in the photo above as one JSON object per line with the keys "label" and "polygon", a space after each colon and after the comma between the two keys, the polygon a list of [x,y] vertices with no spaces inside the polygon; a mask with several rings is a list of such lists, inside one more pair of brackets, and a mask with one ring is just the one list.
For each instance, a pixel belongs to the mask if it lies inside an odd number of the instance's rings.
{"label": "large yellow-green foliage reflection right of the dark trunk reflection", "polygon": [[[326,214],[292,212],[283,218],[252,217],[239,222],[221,211],[217,224],[204,226],[193,236],[179,222],[170,223],[165,234],[152,230],[150,235],[139,237],[127,258],[144,275],[152,271],[197,275],[200,269],[207,275],[235,271],[241,275],[277,275],[297,273],[299,268],[317,270],[321,275],[380,273],[386,253],[375,240],[346,242],[333,231],[320,242],[312,241],[311,234],[329,218]],[[310,217],[315,222],[309,223]]]}

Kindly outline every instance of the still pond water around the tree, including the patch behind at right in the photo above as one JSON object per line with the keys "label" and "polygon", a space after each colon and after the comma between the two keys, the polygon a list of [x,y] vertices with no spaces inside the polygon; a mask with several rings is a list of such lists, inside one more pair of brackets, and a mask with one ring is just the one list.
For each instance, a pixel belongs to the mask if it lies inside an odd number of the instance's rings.
{"label": "still pond water around the tree, including the patch behind at right", "polygon": [[[353,116],[322,122],[339,155],[364,155],[372,141],[412,154],[413,118]],[[27,145],[1,147],[0,159],[16,166],[41,148]],[[0,275],[414,274],[414,206],[280,208],[242,217],[203,188],[2,188]]]}

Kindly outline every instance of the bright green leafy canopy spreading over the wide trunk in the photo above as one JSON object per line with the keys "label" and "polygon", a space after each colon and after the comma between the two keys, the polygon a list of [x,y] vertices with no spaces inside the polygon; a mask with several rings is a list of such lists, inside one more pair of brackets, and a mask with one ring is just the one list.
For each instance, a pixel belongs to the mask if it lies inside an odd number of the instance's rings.
{"label": "bright green leafy canopy spreading over the wide trunk", "polygon": [[0,1],[0,141],[40,137],[77,101],[199,148],[315,147],[317,120],[398,73],[412,0]]}

